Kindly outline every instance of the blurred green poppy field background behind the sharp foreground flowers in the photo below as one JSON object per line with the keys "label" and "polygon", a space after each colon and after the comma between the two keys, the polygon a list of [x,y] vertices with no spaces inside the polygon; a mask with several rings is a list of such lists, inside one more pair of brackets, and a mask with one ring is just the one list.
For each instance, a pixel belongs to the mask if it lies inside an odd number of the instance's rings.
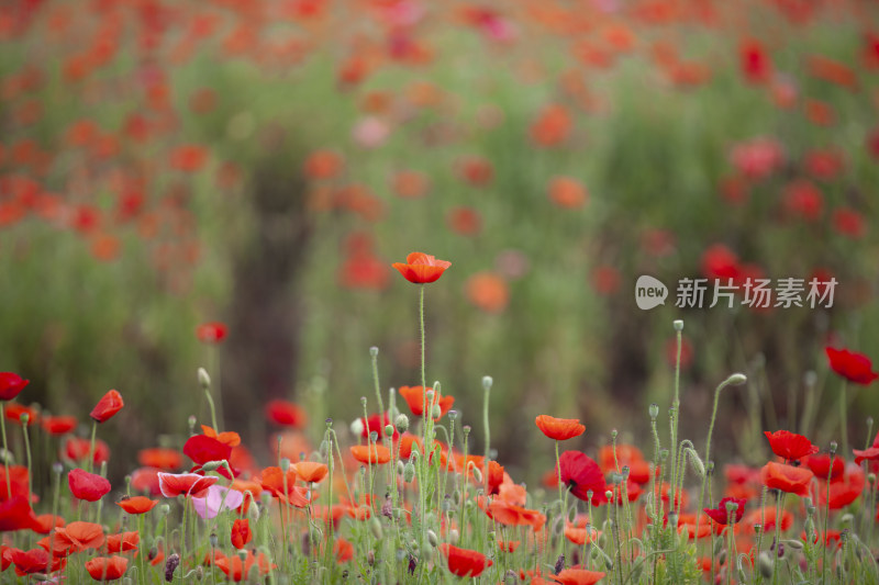
{"label": "blurred green poppy field background behind the sharp foreground flowers", "polygon": [[[841,384],[824,346],[879,358],[878,16],[794,0],[12,2],[0,369],[32,381],[21,402],[82,420],[118,389],[101,436],[126,461],[209,420],[204,365],[224,427],[265,458],[270,397],[318,429],[361,416],[360,396],[377,409],[371,346],[382,389],[419,383],[418,288],[390,263],[420,250],[453,263],[426,290],[429,383],[479,443],[493,376],[492,445],[520,476],[548,454],[523,440],[538,414],[581,418],[585,445],[646,437],[676,318],[682,436],[701,440],[713,387],[745,371],[719,452],[759,460],[764,428],[826,441]],[[838,281],[830,310],[675,307],[681,278],[816,273]],[[669,285],[665,306],[637,308],[641,274]],[[213,320],[218,346],[194,333]],[[877,400],[849,392],[860,443]]]}

